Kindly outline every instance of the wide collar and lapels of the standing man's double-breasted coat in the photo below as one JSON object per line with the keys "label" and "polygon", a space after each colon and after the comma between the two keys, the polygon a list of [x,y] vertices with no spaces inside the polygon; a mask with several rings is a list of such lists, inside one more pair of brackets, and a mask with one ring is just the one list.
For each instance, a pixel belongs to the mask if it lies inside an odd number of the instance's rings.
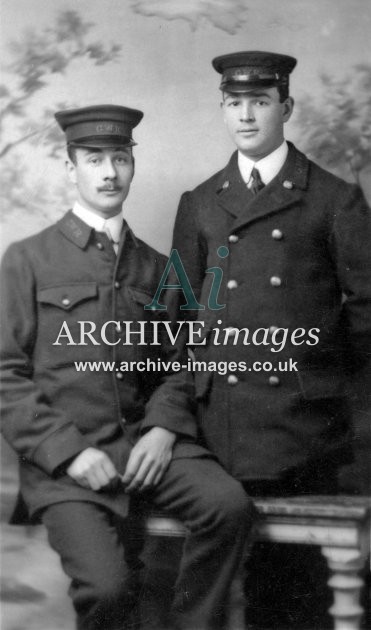
{"label": "wide collar and lapels of the standing man's double-breasted coat", "polygon": [[278,175],[258,195],[252,195],[243,182],[237,152],[220,173],[216,196],[218,206],[234,217],[234,231],[252,221],[279,212],[297,203],[308,184],[309,161],[290,142],[285,164]]}

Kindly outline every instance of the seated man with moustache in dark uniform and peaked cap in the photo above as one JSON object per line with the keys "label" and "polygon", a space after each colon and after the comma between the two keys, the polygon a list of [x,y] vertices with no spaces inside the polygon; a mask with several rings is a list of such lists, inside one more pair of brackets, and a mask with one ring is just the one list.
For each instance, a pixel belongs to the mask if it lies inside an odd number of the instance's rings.
{"label": "seated man with moustache in dark uniform and peaked cap", "polygon": [[[144,305],[166,259],[122,216],[142,115],[112,105],[56,114],[77,202],[4,255],[2,431],[19,456],[30,515],[41,516],[71,578],[79,630],[126,627],[133,553],[124,525],[129,497],[141,495],[189,528],[172,627],[207,630],[223,620],[251,505],[195,442],[192,385],[153,367],[179,356],[165,336],[162,345],[147,337],[161,320]],[[152,372],[139,367],[147,359]],[[113,367],[76,368],[86,361]]]}

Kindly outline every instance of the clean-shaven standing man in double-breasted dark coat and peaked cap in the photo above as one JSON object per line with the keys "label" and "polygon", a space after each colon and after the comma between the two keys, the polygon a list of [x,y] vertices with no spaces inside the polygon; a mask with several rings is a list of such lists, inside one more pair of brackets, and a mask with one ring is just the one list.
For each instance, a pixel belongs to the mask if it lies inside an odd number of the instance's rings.
{"label": "clean-shaven standing man in double-breasted dark coat and peaked cap", "polygon": [[[295,65],[262,51],[213,60],[237,151],[182,196],[173,240],[206,306],[193,311],[204,321],[196,359],[234,364],[225,374],[195,372],[200,429],[253,496],[333,494],[352,456],[353,380],[363,379],[353,445],[363,474],[358,491],[368,493],[370,210],[358,186],[285,141]],[[217,308],[207,308],[215,268],[223,280]],[[176,318],[182,313],[192,311]],[[245,369],[236,369],[240,362]],[[253,627],[317,627],[314,593],[323,582],[312,559],[306,570],[296,548],[256,546],[249,566]],[[299,574],[306,580],[297,582]]]}

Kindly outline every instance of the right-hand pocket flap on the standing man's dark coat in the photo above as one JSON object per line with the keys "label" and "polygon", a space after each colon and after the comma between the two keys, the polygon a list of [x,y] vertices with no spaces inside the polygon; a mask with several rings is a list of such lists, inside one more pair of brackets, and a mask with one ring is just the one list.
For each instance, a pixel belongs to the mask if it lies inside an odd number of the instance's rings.
{"label": "right-hand pocket flap on the standing man's dark coat", "polygon": [[301,393],[306,400],[341,398],[346,396],[345,376],[330,370],[298,372]]}

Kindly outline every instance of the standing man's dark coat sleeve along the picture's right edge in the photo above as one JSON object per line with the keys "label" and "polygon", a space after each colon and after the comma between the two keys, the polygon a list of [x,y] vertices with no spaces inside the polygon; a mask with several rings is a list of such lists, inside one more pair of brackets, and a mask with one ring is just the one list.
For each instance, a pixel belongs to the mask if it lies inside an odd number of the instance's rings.
{"label": "standing man's dark coat sleeve along the picture's right edge", "polygon": [[357,186],[336,209],[332,247],[344,293],[342,325],[353,382],[354,464],[340,474],[346,491],[371,492],[371,211]]}

